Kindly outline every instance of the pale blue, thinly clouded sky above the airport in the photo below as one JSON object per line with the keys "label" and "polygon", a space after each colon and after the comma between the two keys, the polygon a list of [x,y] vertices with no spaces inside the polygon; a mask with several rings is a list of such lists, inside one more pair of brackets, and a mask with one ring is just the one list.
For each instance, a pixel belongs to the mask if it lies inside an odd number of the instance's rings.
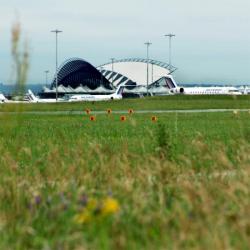
{"label": "pale blue, thinly clouded sky above the airport", "polygon": [[80,57],[94,66],[110,58],[172,64],[180,83],[250,84],[249,0],[0,0],[0,83],[12,84],[11,28],[21,23],[30,50],[28,83],[45,84],[58,61]]}

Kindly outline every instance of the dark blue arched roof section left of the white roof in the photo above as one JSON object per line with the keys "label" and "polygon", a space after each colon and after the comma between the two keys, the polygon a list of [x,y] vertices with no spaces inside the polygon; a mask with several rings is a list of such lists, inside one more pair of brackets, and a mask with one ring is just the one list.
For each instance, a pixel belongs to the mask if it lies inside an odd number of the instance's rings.
{"label": "dark blue arched roof section left of the white roof", "polygon": [[[56,85],[56,77],[52,82],[51,88]],[[71,58],[65,61],[58,69],[58,86],[77,88],[87,86],[96,89],[103,86],[112,89],[112,84],[90,63],[81,58]]]}

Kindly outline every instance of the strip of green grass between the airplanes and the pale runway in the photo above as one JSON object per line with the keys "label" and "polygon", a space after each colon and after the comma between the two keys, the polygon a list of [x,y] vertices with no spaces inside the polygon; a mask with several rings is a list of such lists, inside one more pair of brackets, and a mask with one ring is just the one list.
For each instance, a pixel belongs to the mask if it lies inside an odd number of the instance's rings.
{"label": "strip of green grass between the airplanes and the pale runway", "polygon": [[[20,105],[0,105],[1,111],[16,111]],[[248,96],[163,96],[145,99],[123,99],[110,102],[84,102],[84,103],[57,103],[57,104],[24,104],[24,111],[82,111],[86,108],[92,110],[176,110],[176,109],[244,109],[250,108],[250,95]]]}

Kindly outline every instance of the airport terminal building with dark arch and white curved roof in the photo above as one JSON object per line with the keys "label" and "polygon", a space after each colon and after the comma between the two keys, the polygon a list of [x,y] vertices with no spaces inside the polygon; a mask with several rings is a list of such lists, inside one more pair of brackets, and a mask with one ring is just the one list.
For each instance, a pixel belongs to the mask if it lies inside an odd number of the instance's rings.
{"label": "airport terminal building with dark arch and white curved roof", "polygon": [[[72,58],[58,69],[58,94],[110,94],[119,85],[127,85],[125,95],[167,94],[172,87],[165,76],[176,70],[169,64],[140,58],[113,60],[97,68],[89,62]],[[147,73],[148,72],[148,73]],[[56,77],[41,95],[52,97],[56,92]]]}

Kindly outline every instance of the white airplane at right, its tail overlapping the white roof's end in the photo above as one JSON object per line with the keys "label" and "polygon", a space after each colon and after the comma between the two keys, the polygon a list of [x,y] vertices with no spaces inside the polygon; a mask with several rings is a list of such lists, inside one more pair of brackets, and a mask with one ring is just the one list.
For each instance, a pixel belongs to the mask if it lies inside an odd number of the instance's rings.
{"label": "white airplane at right, its tail overlapping the white roof's end", "polygon": [[241,95],[235,87],[179,87],[171,75],[167,76],[173,87],[170,92],[183,95]]}

